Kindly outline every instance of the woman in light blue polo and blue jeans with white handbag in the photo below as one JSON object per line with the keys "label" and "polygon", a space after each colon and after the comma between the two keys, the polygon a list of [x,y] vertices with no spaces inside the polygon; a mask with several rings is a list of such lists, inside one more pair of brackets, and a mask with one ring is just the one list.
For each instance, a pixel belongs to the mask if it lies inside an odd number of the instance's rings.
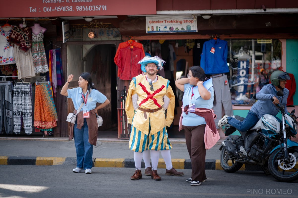
{"label": "woman in light blue polo and blue jeans with white handbag", "polygon": [[[72,99],[75,106],[74,113],[80,105],[83,107],[77,114],[75,124],[71,124],[69,140],[75,138],[77,152],[77,167],[73,172],[91,173],[93,145],[97,140],[97,110],[105,107],[110,101],[92,85],[91,75],[88,72],[79,76],[79,87],[68,89],[73,75],[69,75],[67,82],[61,89],[60,94]],[[96,103],[101,103],[96,106]]]}

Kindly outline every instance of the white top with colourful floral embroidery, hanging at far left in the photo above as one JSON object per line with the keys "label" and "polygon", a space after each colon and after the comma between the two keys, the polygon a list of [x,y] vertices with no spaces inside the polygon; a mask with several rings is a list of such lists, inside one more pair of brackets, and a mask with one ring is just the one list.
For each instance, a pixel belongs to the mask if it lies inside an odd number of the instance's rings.
{"label": "white top with colourful floral embroidery, hanging at far left", "polygon": [[14,64],[15,58],[13,56],[13,46],[7,41],[11,29],[9,31],[4,31],[0,26],[0,65]]}

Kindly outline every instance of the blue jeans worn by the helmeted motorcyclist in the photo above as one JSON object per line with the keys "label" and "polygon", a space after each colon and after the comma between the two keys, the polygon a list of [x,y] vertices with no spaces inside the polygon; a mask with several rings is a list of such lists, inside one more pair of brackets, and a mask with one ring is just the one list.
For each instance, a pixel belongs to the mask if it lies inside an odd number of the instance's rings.
{"label": "blue jeans worn by the helmeted motorcyclist", "polygon": [[242,122],[232,117],[228,117],[227,119],[229,125],[234,126],[236,129],[243,132],[252,128],[259,121],[258,116],[252,111],[248,112],[246,118]]}

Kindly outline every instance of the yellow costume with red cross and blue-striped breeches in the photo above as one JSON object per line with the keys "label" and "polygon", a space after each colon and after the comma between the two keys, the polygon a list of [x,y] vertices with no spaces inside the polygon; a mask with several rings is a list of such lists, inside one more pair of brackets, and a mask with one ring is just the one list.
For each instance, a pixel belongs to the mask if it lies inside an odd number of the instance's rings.
{"label": "yellow costume with red cross and blue-striped breeches", "polygon": [[[175,96],[169,81],[158,76],[158,80],[153,84],[153,91],[146,80],[146,76],[133,78],[129,85],[125,111],[128,122],[132,124],[129,148],[132,151],[143,152],[145,150],[169,150],[172,148],[168,140],[166,126],[170,126],[174,118]],[[167,107],[167,118],[164,109],[154,113],[146,113],[141,110],[134,111],[131,96],[137,94],[139,99],[137,104],[143,109],[158,109],[163,102],[163,96],[170,99]]]}

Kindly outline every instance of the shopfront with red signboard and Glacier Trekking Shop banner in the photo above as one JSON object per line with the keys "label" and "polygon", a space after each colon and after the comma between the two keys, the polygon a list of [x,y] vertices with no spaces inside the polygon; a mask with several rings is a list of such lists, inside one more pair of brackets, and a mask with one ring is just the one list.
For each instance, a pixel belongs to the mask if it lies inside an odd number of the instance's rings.
{"label": "shopfront with red signboard and Glacier Trekking Shop banner", "polygon": [[[228,72],[223,73],[227,75],[228,82],[223,86],[229,85],[234,115],[246,116],[255,102],[255,94],[263,84],[268,83],[268,76],[275,69],[283,69],[294,77],[298,76],[296,1],[283,5],[279,1],[274,5],[261,1],[254,5],[242,1],[208,2],[193,3],[187,0],[182,4],[178,1],[156,0],[140,3],[131,0],[120,4],[105,1],[99,7],[92,1],[36,0],[28,7],[23,1],[18,1],[16,9],[20,10],[19,13],[1,14],[0,18],[15,18],[17,20],[10,20],[14,25],[23,22],[20,18],[26,18],[27,26],[33,26],[34,18],[49,17],[39,19],[38,23],[47,28],[44,34],[46,50],[61,47],[64,82],[69,74],[74,74],[69,88],[76,87],[76,76],[82,72],[91,73],[94,85],[112,104],[98,112],[105,121],[99,130],[118,128],[118,138],[127,139],[130,126],[127,124],[123,107],[125,88],[128,88],[130,80],[119,78],[114,56],[119,43],[127,42],[129,36],[142,44],[144,52],[151,56],[160,55],[167,60],[169,64],[162,75],[171,80],[173,89],[174,80],[185,75],[188,72],[187,68],[200,65],[200,54],[206,41],[213,38],[226,41],[228,53],[225,56],[229,66]],[[262,9],[263,4],[267,11]],[[23,7],[28,9],[23,10]],[[60,19],[53,20],[55,16],[59,16]],[[85,16],[94,17],[89,19],[91,22],[86,22],[86,19],[83,19]],[[173,19],[169,19],[171,17]],[[70,39],[63,43],[65,34],[62,34],[61,23],[65,20],[69,20]],[[161,21],[178,25],[162,26]],[[2,20],[1,23],[5,21]],[[263,69],[266,74],[261,74]],[[295,108],[297,112],[298,96],[294,94],[296,87],[291,88],[294,107],[288,107],[288,110]],[[60,90],[61,86],[57,86],[58,94],[54,97],[58,115],[54,136],[67,137],[69,127],[64,118],[67,113],[72,112],[73,106],[70,99],[59,94]],[[181,114],[182,94],[179,91],[175,93],[176,113],[173,126],[169,130],[179,137],[177,125]],[[222,115],[224,114],[223,108]],[[224,137],[223,132],[220,134]]]}

